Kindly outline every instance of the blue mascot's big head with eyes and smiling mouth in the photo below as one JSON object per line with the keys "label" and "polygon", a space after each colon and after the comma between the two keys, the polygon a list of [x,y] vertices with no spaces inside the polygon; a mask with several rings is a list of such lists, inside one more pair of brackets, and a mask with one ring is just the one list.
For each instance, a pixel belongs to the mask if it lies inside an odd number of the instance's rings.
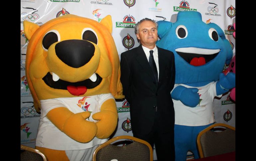
{"label": "blue mascot's big head with eyes and smiling mouth", "polygon": [[176,84],[202,86],[219,79],[233,56],[219,26],[204,23],[201,14],[193,11],[179,12],[175,23],[157,23],[157,45],[175,55]]}

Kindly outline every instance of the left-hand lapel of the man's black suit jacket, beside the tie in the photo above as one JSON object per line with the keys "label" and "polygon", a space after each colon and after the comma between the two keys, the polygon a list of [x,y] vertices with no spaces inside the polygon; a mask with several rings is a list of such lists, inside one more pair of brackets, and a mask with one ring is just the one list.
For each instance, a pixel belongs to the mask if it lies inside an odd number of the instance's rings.
{"label": "left-hand lapel of the man's black suit jacket, beside the tie", "polygon": [[148,59],[141,45],[137,47],[136,59],[141,65],[141,67],[146,71],[146,73],[148,73],[148,75],[152,78],[152,80],[155,80],[155,77],[149,65]]}

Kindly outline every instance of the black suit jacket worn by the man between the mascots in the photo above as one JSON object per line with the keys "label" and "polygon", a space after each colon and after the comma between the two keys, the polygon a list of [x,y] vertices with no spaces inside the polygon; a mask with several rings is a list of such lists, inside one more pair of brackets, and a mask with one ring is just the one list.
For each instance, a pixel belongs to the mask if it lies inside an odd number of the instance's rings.
{"label": "black suit jacket worn by the man between the mascots", "polygon": [[136,134],[148,134],[151,131],[156,111],[161,116],[159,121],[163,132],[173,130],[174,127],[171,98],[175,82],[174,54],[163,48],[157,49],[158,83],[141,45],[121,54],[123,94],[130,103],[131,125]]}

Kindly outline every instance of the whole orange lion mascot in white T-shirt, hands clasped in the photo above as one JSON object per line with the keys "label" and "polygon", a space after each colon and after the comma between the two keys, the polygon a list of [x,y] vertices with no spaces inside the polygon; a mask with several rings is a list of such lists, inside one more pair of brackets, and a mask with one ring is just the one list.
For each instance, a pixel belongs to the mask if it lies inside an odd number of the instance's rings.
{"label": "whole orange lion mascot in white T-shirt, hands clasped", "polygon": [[98,23],[65,15],[41,27],[24,21],[24,32],[26,77],[41,111],[36,148],[50,161],[91,159],[116,128],[114,98],[124,98],[111,16]]}

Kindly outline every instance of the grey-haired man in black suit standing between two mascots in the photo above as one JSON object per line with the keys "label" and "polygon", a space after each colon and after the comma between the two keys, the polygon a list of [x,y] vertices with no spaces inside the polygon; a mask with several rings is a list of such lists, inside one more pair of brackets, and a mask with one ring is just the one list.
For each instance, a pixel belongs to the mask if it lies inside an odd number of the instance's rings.
{"label": "grey-haired man in black suit standing between two mascots", "polygon": [[157,27],[148,18],[136,24],[141,44],[121,54],[121,82],[133,136],[155,144],[158,161],[174,161],[174,54],[156,46]]}

